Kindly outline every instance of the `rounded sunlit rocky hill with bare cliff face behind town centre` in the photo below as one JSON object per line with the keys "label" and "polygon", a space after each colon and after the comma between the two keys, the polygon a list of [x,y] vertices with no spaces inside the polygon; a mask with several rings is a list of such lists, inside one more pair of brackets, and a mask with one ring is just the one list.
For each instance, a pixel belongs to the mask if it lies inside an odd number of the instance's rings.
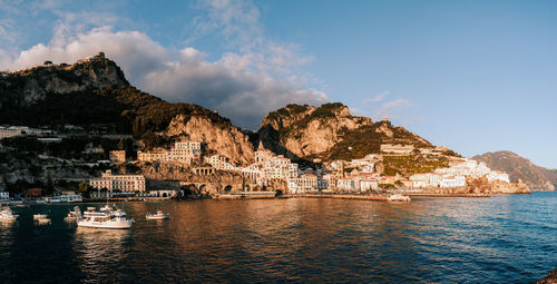
{"label": "rounded sunlit rocky hill with bare cliff face behind town centre", "polygon": [[291,157],[350,159],[379,153],[383,143],[431,146],[426,139],[393,127],[389,121],[373,123],[352,116],[346,106],[324,104],[321,107],[289,105],[270,112],[258,131],[266,148]]}

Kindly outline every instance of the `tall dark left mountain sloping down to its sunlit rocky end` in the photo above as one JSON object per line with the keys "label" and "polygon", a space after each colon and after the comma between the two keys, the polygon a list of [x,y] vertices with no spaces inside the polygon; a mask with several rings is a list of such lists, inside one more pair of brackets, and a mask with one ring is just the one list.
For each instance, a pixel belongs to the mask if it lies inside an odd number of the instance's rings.
{"label": "tall dark left mountain sloping down to its sunlit rocky end", "polygon": [[227,118],[136,89],[102,53],[74,65],[48,63],[0,76],[0,125],[61,129],[68,124],[133,134],[147,148],[187,137],[205,143],[208,150],[232,161],[246,164],[253,159],[248,136]]}

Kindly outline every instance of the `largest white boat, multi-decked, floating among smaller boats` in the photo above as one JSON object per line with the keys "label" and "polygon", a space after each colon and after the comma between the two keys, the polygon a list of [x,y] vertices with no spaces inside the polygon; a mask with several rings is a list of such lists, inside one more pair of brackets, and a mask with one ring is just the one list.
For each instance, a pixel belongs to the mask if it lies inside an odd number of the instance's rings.
{"label": "largest white boat, multi-decked, floating among smaller boats", "polygon": [[134,224],[133,219],[126,218],[126,213],[118,209],[111,208],[108,205],[100,208],[99,210],[86,210],[84,216],[79,212],[79,208],[75,207],[77,215],[77,225],[79,227],[91,227],[91,228],[130,228]]}

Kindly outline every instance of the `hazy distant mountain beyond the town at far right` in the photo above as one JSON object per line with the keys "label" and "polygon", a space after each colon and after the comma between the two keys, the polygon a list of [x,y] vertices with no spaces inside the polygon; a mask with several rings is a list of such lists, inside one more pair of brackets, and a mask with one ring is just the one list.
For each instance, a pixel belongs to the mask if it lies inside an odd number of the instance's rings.
{"label": "hazy distant mountain beyond the town at far right", "polygon": [[506,172],[511,182],[521,179],[532,189],[555,190],[557,185],[557,170],[539,167],[529,159],[508,150],[486,153],[472,157],[483,161],[491,169]]}

